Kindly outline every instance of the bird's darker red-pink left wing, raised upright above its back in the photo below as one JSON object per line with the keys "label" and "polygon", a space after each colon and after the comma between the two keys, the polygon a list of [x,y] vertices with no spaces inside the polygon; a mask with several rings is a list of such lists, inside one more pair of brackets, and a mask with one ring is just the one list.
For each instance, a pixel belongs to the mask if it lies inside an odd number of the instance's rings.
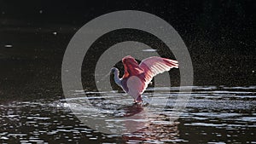
{"label": "bird's darker red-pink left wing, raised upright above its back", "polygon": [[125,74],[123,78],[128,78],[129,76],[136,76],[143,73],[143,69],[138,66],[137,61],[130,55],[125,56],[122,61],[125,66]]}

